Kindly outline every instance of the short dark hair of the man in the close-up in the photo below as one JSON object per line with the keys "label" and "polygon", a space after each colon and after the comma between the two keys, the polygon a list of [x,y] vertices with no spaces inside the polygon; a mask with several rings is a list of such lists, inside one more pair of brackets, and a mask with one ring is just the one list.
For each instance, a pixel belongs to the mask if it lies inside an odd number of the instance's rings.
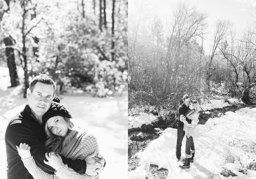
{"label": "short dark hair of the man in the close-up", "polygon": [[50,78],[50,77],[49,77],[48,75],[46,75],[46,74],[40,74],[40,75],[35,76],[35,77],[31,80],[30,87],[29,87],[31,93],[33,92],[33,89],[34,89],[34,87],[36,86],[36,83],[37,83],[37,82],[41,82],[41,83],[44,83],[44,84],[47,84],[47,85],[53,85],[53,88],[54,88],[53,97],[54,97],[56,84],[55,84],[55,82],[53,81],[52,78]]}

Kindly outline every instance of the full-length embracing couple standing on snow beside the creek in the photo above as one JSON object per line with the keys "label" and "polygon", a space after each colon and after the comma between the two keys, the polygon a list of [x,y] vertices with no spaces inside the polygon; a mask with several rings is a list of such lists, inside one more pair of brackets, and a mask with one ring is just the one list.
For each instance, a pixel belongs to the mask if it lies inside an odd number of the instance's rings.
{"label": "full-length embracing couple standing on snow beside the creek", "polygon": [[185,158],[182,159],[183,165],[179,166],[182,169],[190,168],[190,163],[194,162],[194,140],[197,136],[197,123],[199,122],[199,103],[191,101],[187,94],[183,96],[183,104],[178,108],[179,119],[177,122],[177,144],[176,144],[176,161],[180,161],[181,143],[186,135]]}

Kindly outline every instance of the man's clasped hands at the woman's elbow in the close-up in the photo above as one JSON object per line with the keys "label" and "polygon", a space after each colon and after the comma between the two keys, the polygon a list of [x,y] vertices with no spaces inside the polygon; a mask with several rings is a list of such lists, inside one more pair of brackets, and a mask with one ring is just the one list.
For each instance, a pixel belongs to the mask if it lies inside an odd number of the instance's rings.
{"label": "man's clasped hands at the woman's elbow in the close-up", "polygon": [[[102,166],[102,161],[100,158],[95,157],[95,152],[90,154],[89,156],[87,156],[85,158],[85,162],[86,162],[86,172],[85,174],[87,175],[97,175],[98,173],[101,172],[101,170],[103,169]],[[97,159],[95,159],[97,158]],[[105,160],[103,162],[103,164],[105,163]],[[97,169],[97,171],[96,171]]]}

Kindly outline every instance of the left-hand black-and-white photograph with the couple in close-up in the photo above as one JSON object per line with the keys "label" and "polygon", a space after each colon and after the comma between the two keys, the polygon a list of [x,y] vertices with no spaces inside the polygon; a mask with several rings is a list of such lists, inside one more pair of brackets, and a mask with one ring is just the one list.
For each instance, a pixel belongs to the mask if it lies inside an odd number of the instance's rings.
{"label": "left-hand black-and-white photograph with the couple in close-up", "polygon": [[127,178],[127,0],[0,0],[0,178]]}

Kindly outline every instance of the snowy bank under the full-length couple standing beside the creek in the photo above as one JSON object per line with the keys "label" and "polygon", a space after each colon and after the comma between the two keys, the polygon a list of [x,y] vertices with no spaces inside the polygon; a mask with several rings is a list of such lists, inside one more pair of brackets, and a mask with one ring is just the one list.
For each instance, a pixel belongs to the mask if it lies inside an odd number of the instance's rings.
{"label": "snowy bank under the full-length couple standing beside the creek", "polygon": [[[168,179],[224,179],[219,174],[225,167],[235,173],[234,179],[254,179],[256,171],[247,170],[247,175],[238,172],[250,162],[256,162],[255,153],[256,108],[242,108],[226,112],[220,118],[209,119],[206,124],[198,125],[195,144],[194,163],[190,169],[180,169],[176,162],[177,129],[167,128],[162,135],[149,143],[148,147],[136,154],[140,158],[140,167],[129,172],[128,178],[145,178],[146,164],[155,164],[169,170]],[[186,137],[182,142],[182,156],[185,154]],[[225,162],[232,158],[232,162]],[[239,162],[241,161],[241,163]]]}

